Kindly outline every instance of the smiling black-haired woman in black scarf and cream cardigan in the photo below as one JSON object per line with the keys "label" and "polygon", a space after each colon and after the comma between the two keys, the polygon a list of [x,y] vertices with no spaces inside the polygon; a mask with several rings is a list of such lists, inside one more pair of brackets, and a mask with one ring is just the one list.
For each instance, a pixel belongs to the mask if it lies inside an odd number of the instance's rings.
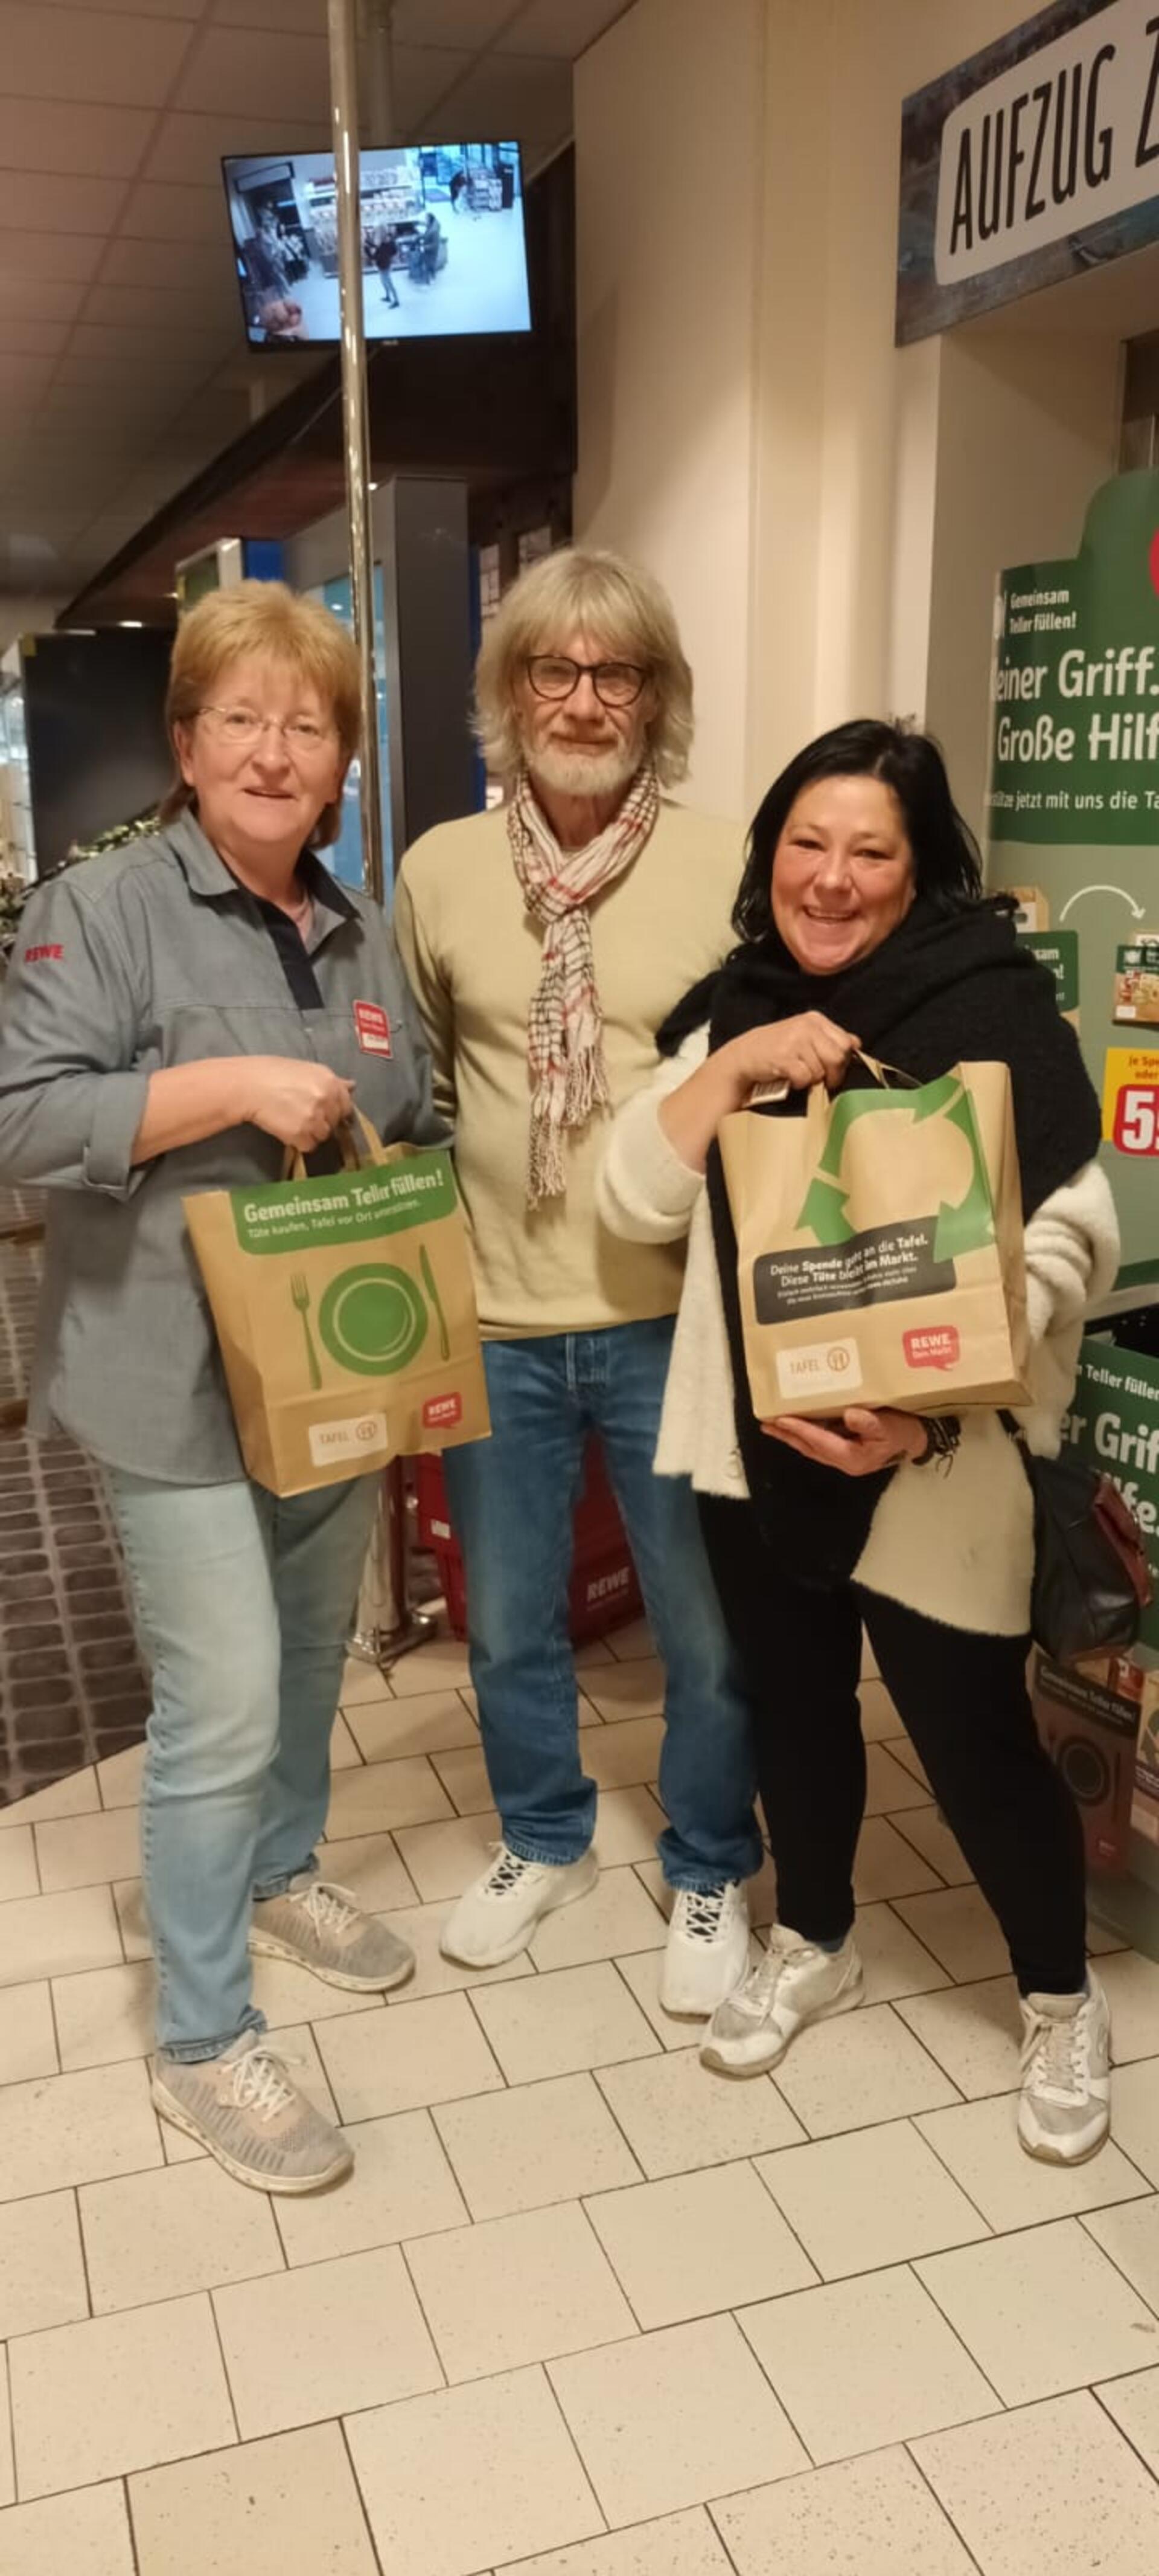
{"label": "smiling black-haired woman in black scarf and cream cardigan", "polygon": [[976,845],[938,747],[842,724],[768,791],[734,909],[739,945],[659,1033],[654,1084],[621,1110],[603,1218],[688,1231],[657,1448],[690,1473],[716,1587],[757,1713],[780,1924],[708,2027],[724,2074],[775,2066],[804,2022],[860,2002],[853,1860],[865,1808],[863,1628],[945,1821],[1010,1945],[1022,1996],[1017,2130],[1074,2164],[1107,2136],[1110,2025],[1087,1973],[1082,1829],[1038,1744],[1033,1517],[997,1412],[961,1422],[853,1406],[842,1422],[757,1422],[721,1118],[773,1087],[768,1115],[837,1090],[868,1048],[932,1082],[1010,1066],[1022,1170],[1035,1453],[1056,1453],[1082,1316],[1118,1267],[1097,1164],[1100,1113],[1053,981],[981,894]]}

